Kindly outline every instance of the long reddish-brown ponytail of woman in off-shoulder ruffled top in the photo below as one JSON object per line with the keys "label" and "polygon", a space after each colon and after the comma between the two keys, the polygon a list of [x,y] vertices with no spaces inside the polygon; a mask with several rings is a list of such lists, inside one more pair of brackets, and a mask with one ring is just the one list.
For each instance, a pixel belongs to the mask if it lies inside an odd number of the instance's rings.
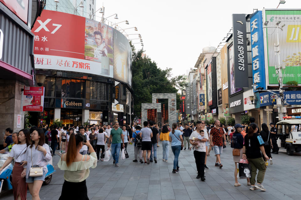
{"label": "long reddish-brown ponytail of woman in off-shoulder ruffled top", "polygon": [[77,146],[79,143],[83,142],[84,139],[80,134],[72,133],[68,143],[68,150],[66,155],[67,167],[74,161],[77,155]]}

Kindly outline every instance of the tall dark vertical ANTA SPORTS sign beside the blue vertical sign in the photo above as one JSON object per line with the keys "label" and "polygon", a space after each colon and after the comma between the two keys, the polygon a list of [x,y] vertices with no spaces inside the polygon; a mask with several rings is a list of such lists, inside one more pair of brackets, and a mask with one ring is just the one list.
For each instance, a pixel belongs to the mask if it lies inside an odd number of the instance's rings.
{"label": "tall dark vertical ANTA SPORTS sign beside the blue vertical sign", "polygon": [[246,15],[232,14],[235,88],[248,88]]}

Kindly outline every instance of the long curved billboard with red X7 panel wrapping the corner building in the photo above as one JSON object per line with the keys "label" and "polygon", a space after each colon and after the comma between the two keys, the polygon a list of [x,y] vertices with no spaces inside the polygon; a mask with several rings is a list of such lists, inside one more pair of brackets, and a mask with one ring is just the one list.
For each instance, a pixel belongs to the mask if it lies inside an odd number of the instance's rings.
{"label": "long curved billboard with red X7 panel wrapping the corner building", "polygon": [[36,69],[114,77],[131,86],[132,50],[119,31],[89,18],[50,10],[44,10],[37,22],[32,29]]}

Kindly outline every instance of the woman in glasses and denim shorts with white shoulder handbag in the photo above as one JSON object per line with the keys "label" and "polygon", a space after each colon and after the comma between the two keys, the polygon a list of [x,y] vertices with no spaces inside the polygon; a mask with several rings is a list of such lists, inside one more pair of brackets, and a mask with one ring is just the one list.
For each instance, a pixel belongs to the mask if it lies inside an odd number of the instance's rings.
{"label": "woman in glasses and denim shorts with white shoulder handbag", "polygon": [[25,164],[21,177],[26,177],[33,200],[39,200],[39,192],[48,172],[47,163],[51,160],[50,148],[45,144],[43,129],[38,128],[31,134],[32,143],[26,149]]}

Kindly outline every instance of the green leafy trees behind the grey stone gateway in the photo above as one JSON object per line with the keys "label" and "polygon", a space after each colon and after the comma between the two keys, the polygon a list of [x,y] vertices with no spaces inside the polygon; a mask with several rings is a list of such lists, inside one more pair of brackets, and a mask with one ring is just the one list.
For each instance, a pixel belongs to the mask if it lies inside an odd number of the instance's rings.
{"label": "green leafy trees behind the grey stone gateway", "polygon": [[184,75],[172,77],[172,68],[160,69],[144,50],[132,46],[132,71],[134,90],[134,118],[140,118],[141,103],[151,103],[152,93],[177,93],[177,109],[180,108],[178,90],[185,87]]}

